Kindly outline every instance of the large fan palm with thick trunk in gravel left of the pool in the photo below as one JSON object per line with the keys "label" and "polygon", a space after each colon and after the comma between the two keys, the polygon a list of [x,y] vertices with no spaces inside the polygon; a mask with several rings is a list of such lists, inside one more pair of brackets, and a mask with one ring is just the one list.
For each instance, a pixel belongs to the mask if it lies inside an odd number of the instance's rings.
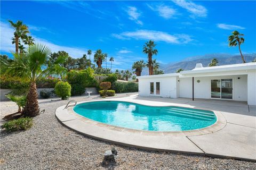
{"label": "large fan palm with thick trunk in gravel left of the pool", "polygon": [[[50,75],[55,71],[54,66],[46,67],[48,62],[48,56],[51,54],[50,48],[35,44],[26,49],[26,53],[17,54],[13,53],[13,62],[8,65],[7,72],[11,75],[15,75],[21,78],[27,78],[30,80],[29,92],[27,94],[27,101],[23,114],[25,116],[36,116],[39,114],[39,106],[37,101],[36,81],[39,78]],[[63,58],[58,58],[55,64],[62,64]],[[43,69],[45,68],[46,69]]]}

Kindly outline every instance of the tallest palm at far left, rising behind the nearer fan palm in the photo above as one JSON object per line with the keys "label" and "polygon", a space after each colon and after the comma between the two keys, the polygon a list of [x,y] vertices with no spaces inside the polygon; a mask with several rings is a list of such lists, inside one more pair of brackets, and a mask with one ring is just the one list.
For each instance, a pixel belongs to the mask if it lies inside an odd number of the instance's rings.
{"label": "tallest palm at far left, rising behind the nearer fan palm", "polygon": [[9,20],[11,23],[11,26],[15,30],[14,32],[14,39],[15,39],[15,53],[19,53],[19,39],[21,38],[22,40],[26,38],[28,31],[27,25],[23,24],[22,21],[17,21],[16,23],[12,22]]}

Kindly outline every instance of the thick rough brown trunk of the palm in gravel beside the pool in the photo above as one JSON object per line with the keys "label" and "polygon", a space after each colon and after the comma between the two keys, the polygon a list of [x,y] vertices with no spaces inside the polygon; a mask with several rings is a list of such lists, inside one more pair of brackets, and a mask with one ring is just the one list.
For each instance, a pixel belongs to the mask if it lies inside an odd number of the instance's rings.
{"label": "thick rough brown trunk of the palm in gravel beside the pool", "polygon": [[24,108],[24,115],[34,117],[39,115],[39,106],[37,101],[36,83],[31,82],[27,95],[27,103]]}

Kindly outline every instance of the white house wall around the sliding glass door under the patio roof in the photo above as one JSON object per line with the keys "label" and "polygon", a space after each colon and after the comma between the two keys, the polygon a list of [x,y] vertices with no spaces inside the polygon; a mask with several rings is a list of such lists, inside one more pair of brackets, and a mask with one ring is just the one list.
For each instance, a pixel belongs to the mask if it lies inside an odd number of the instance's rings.
{"label": "white house wall around the sliding glass door under the patio roof", "polygon": [[[238,79],[238,77],[240,79]],[[195,77],[194,79],[194,97],[211,98],[211,79],[233,79],[233,98],[234,100],[247,101],[247,75],[230,75],[220,77]],[[198,83],[197,80],[200,80]],[[179,96],[192,98],[192,78],[180,78]],[[255,87],[255,85],[254,85]]]}

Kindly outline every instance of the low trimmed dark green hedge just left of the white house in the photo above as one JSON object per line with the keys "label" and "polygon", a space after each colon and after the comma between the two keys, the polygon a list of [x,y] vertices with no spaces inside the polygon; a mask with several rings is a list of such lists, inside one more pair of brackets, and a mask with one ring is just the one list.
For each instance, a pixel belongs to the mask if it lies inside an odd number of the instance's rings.
{"label": "low trimmed dark green hedge just left of the white house", "polygon": [[115,90],[116,93],[137,92],[139,90],[138,83],[135,83],[135,82],[121,82],[121,81],[114,82],[111,89]]}

